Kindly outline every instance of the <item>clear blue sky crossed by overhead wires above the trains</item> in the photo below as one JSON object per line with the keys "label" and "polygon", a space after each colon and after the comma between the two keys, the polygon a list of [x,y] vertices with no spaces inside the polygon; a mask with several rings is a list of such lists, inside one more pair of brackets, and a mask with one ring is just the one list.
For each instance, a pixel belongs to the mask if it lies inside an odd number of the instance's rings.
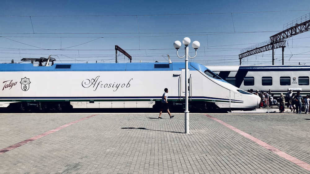
{"label": "clear blue sky crossed by overhead wires above the trains", "polygon": [[[114,45],[132,62],[184,62],[175,40],[198,40],[203,65],[238,65],[242,49],[269,40],[283,25],[310,13],[310,0],[39,1],[2,0],[0,63],[51,57],[55,63],[115,62]],[[310,31],[287,39],[285,64],[310,64]],[[179,54],[184,54],[182,45]],[[194,52],[190,45],[190,55]],[[275,64],[282,64],[276,49]],[[118,54],[118,62],[129,59]],[[272,51],[243,59],[271,65]]]}

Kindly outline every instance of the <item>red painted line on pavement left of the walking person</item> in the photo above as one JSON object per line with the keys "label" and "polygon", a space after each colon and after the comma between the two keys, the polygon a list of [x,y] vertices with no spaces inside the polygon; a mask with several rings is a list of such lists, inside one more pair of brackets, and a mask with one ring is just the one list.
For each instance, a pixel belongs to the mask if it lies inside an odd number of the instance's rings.
{"label": "red painted line on pavement left of the walking person", "polygon": [[68,123],[68,124],[65,124],[65,125],[62,125],[62,126],[56,128],[56,129],[53,129],[53,130],[44,132],[43,134],[40,134],[40,135],[37,135],[37,136],[35,136],[35,137],[26,139],[26,140],[24,140],[24,141],[22,141],[22,142],[19,142],[19,143],[16,143],[16,144],[12,145],[12,146],[8,146],[7,148],[1,149],[1,150],[0,150],[0,154],[3,154],[3,153],[5,153],[5,152],[7,152],[7,151],[11,151],[12,149],[15,149],[15,148],[17,148],[17,147],[23,146],[23,145],[25,145],[25,144],[27,144],[27,143],[29,143],[29,142],[32,142],[32,141],[37,140],[37,139],[39,139],[39,138],[45,137],[45,136],[47,136],[47,135],[49,135],[49,134],[52,134],[52,133],[54,133],[54,132],[56,132],[56,131],[58,131],[58,130],[64,129],[65,127],[68,127],[68,126],[73,125],[73,124],[75,124],[75,123],[77,123],[77,122],[83,121],[83,120],[85,120],[85,119],[87,119],[87,118],[94,117],[94,116],[96,116],[96,115],[98,115],[98,114],[94,114],[94,115],[91,115],[91,116],[88,116],[88,117],[85,117],[85,118],[81,118],[81,119],[76,120],[76,121],[72,121],[72,122],[70,122],[70,123]]}

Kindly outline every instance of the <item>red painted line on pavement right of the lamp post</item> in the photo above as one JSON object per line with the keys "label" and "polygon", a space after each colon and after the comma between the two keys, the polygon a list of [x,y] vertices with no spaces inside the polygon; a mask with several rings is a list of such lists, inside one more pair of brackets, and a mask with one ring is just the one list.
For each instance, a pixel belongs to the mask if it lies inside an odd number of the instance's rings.
{"label": "red painted line on pavement right of the lamp post", "polygon": [[210,115],[207,115],[207,114],[204,114],[204,115],[209,117],[209,118],[211,118],[211,119],[213,119],[213,120],[215,120],[215,121],[217,121],[217,122],[219,122],[219,123],[221,123],[222,125],[228,127],[229,129],[232,129],[233,131],[243,135],[244,137],[249,138],[250,140],[256,142],[257,144],[259,144],[261,146],[263,146],[264,148],[268,149],[269,151],[272,151],[273,153],[281,156],[282,158],[287,159],[290,162],[295,163],[295,164],[299,165],[300,167],[310,171],[310,164],[308,164],[308,163],[306,163],[306,162],[304,162],[304,161],[302,161],[300,159],[297,159],[297,158],[295,158],[295,157],[293,157],[293,156],[291,156],[291,155],[289,155],[289,154],[287,154],[287,153],[277,149],[276,147],[271,146],[271,145],[267,144],[266,142],[263,142],[262,140],[260,140],[258,138],[255,138],[252,135],[247,134],[247,133],[245,133],[245,132],[243,132],[243,131],[233,127],[232,125],[229,125],[229,124],[225,123],[224,121],[221,121],[221,120],[219,120],[219,119],[217,119],[215,117],[212,117]]}

